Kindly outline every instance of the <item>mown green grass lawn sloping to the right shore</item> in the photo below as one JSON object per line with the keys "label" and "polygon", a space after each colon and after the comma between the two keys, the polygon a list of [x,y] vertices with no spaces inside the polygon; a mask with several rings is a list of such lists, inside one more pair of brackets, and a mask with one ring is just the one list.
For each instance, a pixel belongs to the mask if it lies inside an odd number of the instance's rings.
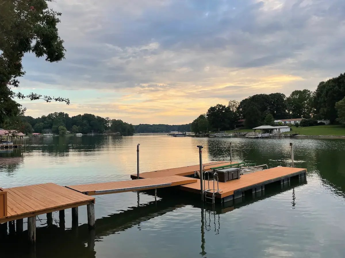
{"label": "mown green grass lawn sloping to the right shore", "polygon": [[344,136],[344,125],[328,125],[328,126],[308,126],[308,127],[292,127],[293,131],[299,132],[301,135],[335,135]]}

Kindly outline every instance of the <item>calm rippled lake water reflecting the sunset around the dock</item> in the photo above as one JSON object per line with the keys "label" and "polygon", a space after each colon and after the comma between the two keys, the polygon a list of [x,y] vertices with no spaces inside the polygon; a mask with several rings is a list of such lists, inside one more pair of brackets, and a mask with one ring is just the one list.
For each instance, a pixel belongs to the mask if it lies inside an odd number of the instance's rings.
{"label": "calm rippled lake water reflecting the sunset around the dock", "polygon": [[[201,206],[199,196],[158,190],[96,197],[96,240],[87,230],[86,207],[79,207],[78,232],[47,227],[38,216],[36,250],[0,244],[9,257],[345,257],[345,140],[209,139],[133,136],[35,138],[26,149],[1,152],[0,186],[54,182],[60,185],[129,179],[136,173],[140,143],[141,172],[229,159],[307,168],[307,183],[247,197],[229,207]],[[5,158],[8,157],[8,158]],[[24,229],[26,227],[24,220]],[[66,210],[66,228],[71,211]],[[90,240],[91,239],[91,240]],[[22,246],[22,247],[21,247]],[[19,248],[18,248],[19,247]]]}

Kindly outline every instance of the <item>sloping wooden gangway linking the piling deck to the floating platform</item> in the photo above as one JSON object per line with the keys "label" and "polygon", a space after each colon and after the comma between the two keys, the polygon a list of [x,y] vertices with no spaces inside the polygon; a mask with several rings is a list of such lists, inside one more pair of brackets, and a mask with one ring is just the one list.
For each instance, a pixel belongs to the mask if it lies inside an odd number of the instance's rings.
{"label": "sloping wooden gangway linking the piling deck to the floating platform", "polygon": [[66,187],[88,195],[99,195],[156,189],[168,186],[190,184],[196,181],[197,179],[195,178],[173,175],[107,183],[68,185]]}

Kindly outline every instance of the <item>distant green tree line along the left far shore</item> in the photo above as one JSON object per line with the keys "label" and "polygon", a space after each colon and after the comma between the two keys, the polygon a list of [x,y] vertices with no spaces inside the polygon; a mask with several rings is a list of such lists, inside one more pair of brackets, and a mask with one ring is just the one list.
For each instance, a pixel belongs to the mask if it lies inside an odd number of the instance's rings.
{"label": "distant green tree line along the left far shore", "polygon": [[73,133],[112,133],[119,132],[123,136],[133,135],[134,126],[122,120],[103,118],[92,114],[69,117],[64,112],[55,112],[47,116],[33,118],[21,116],[21,131],[23,133],[45,132],[63,135],[67,130]]}

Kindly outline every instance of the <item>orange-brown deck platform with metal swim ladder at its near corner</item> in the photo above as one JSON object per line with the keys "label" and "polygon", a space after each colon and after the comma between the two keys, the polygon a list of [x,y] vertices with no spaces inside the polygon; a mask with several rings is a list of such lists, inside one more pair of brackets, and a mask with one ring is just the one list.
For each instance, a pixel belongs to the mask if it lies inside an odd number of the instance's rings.
{"label": "orange-brown deck platform with metal swim ladder at its near corner", "polygon": [[[250,186],[268,184],[270,182],[278,181],[279,179],[286,178],[288,176],[294,176],[306,172],[306,169],[301,168],[287,168],[278,166],[276,168],[265,169],[262,171],[256,171],[242,175],[240,179],[234,179],[228,182],[219,182],[219,189],[223,192],[216,197],[224,198],[226,196],[234,194],[235,191],[246,189]],[[205,181],[206,188],[208,187],[208,181]],[[210,188],[213,189],[213,181],[210,181]],[[217,182],[215,182],[215,188],[217,189]],[[200,193],[200,179],[197,182],[181,185],[180,189]]]}

